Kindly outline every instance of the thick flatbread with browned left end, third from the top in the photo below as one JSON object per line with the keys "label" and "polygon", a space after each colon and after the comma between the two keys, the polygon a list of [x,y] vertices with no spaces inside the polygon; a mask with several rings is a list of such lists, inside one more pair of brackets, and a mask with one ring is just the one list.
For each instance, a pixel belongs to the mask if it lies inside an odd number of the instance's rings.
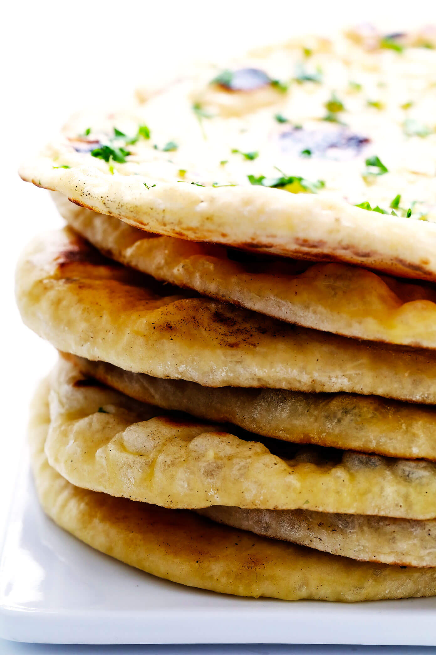
{"label": "thick flatbread with browned left end, third from the top", "polygon": [[[436,353],[295,327],[165,295],[68,229],[37,238],[16,276],[25,324],[58,350],[205,386],[377,394],[436,403]],[[167,291],[168,293],[168,291]]]}

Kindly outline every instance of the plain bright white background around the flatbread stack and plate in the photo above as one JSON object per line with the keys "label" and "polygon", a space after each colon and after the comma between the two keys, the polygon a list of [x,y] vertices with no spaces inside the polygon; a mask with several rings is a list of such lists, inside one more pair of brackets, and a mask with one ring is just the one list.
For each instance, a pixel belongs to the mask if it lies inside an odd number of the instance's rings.
{"label": "plain bright white background around the flatbread stack and plate", "polygon": [[[161,67],[170,69],[180,62],[189,65],[195,59],[212,59],[215,52],[223,50],[237,53],[258,43],[285,40],[299,31],[331,31],[367,20],[386,31],[436,23],[436,3],[434,0],[42,0],[10,1],[3,7],[0,540],[24,442],[29,399],[37,380],[55,360],[51,346],[22,326],[14,306],[13,274],[20,250],[34,234],[61,225],[48,192],[18,178],[16,168],[20,160],[50,138],[76,109],[101,103],[121,104],[123,96],[130,94],[148,75],[156,75]],[[1,653],[55,652],[6,643],[3,648],[0,643]],[[424,651],[428,652],[419,649]],[[115,651],[105,647],[105,652]],[[131,652],[139,651],[133,648]],[[163,650],[147,652],[163,653]],[[181,652],[180,647],[174,652]],[[216,647],[212,652],[218,652]],[[227,647],[223,652],[236,650]],[[250,646],[244,652],[278,650]],[[339,652],[339,649],[330,647],[326,652]]]}

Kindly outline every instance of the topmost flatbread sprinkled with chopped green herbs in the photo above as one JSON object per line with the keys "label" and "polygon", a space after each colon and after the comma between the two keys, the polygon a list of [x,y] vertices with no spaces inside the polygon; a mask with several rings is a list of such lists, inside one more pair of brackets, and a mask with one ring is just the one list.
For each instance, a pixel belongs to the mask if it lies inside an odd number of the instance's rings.
{"label": "topmost flatbread sprinkled with chopped green herbs", "polygon": [[407,39],[358,29],[188,71],[73,117],[20,175],[146,231],[436,280],[435,39]]}

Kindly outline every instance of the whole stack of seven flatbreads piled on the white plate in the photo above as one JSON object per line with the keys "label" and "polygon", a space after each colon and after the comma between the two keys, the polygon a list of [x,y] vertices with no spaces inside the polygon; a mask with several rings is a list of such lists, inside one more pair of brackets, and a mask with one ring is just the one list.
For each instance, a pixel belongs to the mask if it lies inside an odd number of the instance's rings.
{"label": "whole stack of seven flatbreads piled on the white plate", "polygon": [[22,166],[68,224],[17,274],[56,523],[214,591],[436,594],[435,45],[202,66]]}

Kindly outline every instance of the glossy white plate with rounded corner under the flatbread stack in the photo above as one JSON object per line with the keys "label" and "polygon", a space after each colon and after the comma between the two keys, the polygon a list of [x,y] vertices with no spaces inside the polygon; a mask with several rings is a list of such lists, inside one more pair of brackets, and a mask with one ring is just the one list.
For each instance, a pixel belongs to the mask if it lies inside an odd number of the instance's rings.
{"label": "glossy white plate with rounded corner under the flatbread stack", "polygon": [[0,565],[0,637],[16,641],[436,645],[435,612],[436,598],[288,603],[159,580],[47,519],[27,466]]}

